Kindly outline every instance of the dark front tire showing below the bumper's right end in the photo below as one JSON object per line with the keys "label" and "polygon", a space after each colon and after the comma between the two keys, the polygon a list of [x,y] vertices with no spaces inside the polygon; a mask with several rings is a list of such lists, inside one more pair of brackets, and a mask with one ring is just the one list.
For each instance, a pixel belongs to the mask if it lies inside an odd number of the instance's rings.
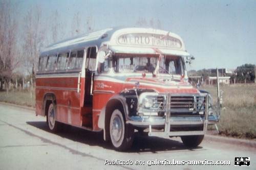
{"label": "dark front tire showing below the bumper's right end", "polygon": [[196,148],[202,141],[204,135],[191,135],[191,136],[181,136],[181,140],[186,147]]}

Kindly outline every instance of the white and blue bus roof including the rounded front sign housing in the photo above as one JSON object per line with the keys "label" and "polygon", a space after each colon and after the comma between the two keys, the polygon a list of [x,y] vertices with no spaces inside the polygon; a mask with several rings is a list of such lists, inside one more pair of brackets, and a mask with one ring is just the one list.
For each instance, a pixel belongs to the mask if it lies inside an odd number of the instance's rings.
{"label": "white and blue bus roof including the rounded front sign housing", "polygon": [[119,53],[163,53],[189,56],[183,40],[176,34],[150,28],[109,28],[47,46],[40,56],[69,51],[75,48],[102,45]]}

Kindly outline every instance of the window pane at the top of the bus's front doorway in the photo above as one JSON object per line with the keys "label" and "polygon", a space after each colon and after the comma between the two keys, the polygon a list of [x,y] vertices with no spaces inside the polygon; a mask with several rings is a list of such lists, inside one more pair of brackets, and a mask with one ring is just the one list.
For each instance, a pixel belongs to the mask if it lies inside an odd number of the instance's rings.
{"label": "window pane at the top of the bus's front doorway", "polygon": [[96,67],[96,47],[89,47],[87,49],[87,56],[86,56],[86,69],[90,71],[95,71]]}

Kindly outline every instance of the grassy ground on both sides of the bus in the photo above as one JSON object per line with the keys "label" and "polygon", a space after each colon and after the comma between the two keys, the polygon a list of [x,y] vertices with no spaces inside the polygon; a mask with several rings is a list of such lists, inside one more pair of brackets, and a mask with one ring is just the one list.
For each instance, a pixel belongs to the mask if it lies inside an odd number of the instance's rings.
{"label": "grassy ground on both sides of the bus", "polygon": [[[201,86],[217,101],[216,86]],[[221,85],[223,91],[221,119],[217,124],[220,135],[256,139],[256,84]],[[31,97],[32,96],[32,97]],[[24,90],[0,92],[0,102],[35,107],[35,92]],[[209,126],[214,130],[214,126]]]}

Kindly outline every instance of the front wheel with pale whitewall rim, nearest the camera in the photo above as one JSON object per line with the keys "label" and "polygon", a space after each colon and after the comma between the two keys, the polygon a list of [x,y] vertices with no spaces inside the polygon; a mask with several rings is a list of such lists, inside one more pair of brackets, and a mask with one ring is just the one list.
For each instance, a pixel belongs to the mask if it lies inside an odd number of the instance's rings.
{"label": "front wheel with pale whitewall rim, nearest the camera", "polygon": [[133,144],[134,127],[124,123],[123,114],[118,109],[113,111],[110,118],[110,138],[118,151],[125,151]]}

